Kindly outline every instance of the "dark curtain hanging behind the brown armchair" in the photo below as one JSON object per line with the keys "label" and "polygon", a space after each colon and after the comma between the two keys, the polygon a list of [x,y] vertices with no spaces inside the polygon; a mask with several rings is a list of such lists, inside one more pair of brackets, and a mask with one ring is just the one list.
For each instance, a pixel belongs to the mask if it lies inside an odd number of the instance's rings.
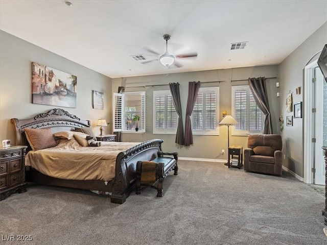
{"label": "dark curtain hanging behind the brown armchair", "polygon": [[249,78],[249,86],[256,105],[265,114],[264,134],[272,134],[271,116],[269,110],[266,78]]}

